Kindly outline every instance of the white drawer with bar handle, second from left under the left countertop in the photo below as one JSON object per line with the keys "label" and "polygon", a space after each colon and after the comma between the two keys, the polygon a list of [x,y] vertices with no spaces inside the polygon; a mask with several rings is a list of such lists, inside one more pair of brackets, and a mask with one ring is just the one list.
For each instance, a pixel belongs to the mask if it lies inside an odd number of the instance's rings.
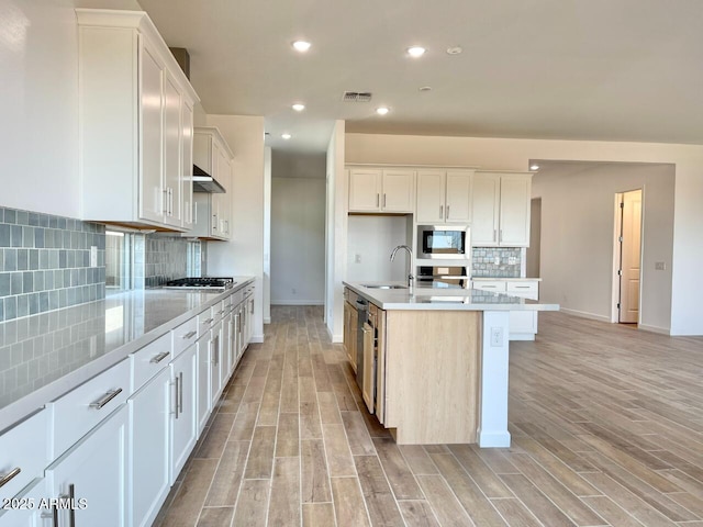
{"label": "white drawer with bar handle, second from left under the left countertop", "polygon": [[56,459],[130,395],[130,361],[113,366],[72,392],[47,404],[52,411],[51,458]]}

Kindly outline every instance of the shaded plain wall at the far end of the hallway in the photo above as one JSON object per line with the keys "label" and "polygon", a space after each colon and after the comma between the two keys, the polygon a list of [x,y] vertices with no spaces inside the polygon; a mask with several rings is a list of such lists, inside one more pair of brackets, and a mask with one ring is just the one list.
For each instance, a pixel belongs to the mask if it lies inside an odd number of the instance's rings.
{"label": "shaded plain wall at the far end of the hallway", "polygon": [[[275,172],[278,173],[276,166]],[[323,178],[275,177],[272,180],[271,303],[275,305],[324,303],[325,193]]]}

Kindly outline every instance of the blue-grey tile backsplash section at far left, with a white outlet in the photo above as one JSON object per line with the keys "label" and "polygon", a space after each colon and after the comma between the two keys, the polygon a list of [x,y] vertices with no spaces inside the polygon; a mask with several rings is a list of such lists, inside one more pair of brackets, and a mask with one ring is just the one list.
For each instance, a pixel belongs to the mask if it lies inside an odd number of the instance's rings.
{"label": "blue-grey tile backsplash section at far left, with a white outlet", "polygon": [[103,225],[0,208],[0,322],[104,299],[104,249]]}

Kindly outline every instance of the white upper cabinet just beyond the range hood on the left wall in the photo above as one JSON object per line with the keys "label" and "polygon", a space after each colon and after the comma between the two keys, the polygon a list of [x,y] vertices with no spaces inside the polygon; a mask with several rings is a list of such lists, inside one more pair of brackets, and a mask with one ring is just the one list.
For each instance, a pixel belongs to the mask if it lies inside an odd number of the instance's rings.
{"label": "white upper cabinet just beyond the range hood on the left wall", "polygon": [[194,193],[196,215],[188,236],[208,239],[232,237],[233,158],[234,154],[216,127],[193,128],[193,164],[212,176],[226,192]]}

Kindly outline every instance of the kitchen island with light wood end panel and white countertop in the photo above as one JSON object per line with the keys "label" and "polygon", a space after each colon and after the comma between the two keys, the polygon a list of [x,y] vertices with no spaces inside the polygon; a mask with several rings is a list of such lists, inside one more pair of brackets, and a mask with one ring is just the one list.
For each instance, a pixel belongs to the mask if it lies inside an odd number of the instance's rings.
{"label": "kitchen island with light wood end panel and white countertop", "polygon": [[376,346],[358,350],[375,365],[373,385],[362,392],[398,444],[510,446],[509,315],[557,304],[479,290],[344,285],[377,313]]}

